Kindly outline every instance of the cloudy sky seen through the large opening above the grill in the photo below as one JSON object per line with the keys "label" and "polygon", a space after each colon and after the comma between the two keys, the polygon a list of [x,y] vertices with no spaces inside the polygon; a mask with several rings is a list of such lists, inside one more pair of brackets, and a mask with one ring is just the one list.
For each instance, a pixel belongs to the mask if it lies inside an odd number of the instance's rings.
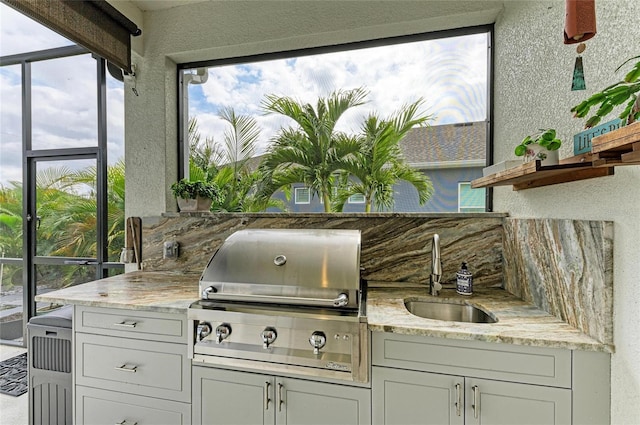
{"label": "cloudy sky seen through the large opening above the grill", "polygon": [[189,115],[203,138],[221,141],[227,124],[223,107],[253,116],[262,129],[258,153],[288,118],[265,115],[268,94],[290,96],[315,105],[336,90],[363,87],[367,103],[347,112],[338,129],[357,132],[365,116],[388,117],[422,98],[431,125],[486,119],[487,35],[342,51],[290,59],[209,68],[202,85],[190,85]]}

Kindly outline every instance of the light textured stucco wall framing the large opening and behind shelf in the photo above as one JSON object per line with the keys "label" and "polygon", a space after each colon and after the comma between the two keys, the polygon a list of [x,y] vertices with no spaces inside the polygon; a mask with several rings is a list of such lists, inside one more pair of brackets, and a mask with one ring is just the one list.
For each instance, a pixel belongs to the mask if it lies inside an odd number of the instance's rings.
{"label": "light textured stucco wall framing the large opening and behind shelf", "polygon": [[[502,11],[500,11],[502,9]],[[500,13],[498,15],[498,13]],[[174,210],[176,62],[197,61],[479,25],[496,21],[495,161],[540,127],[568,141],[582,121],[569,108],[613,81],[637,50],[640,5],[598,0],[598,35],[583,54],[587,90],[571,92],[575,47],[562,44],[564,2],[554,1],[269,1],[205,2],[145,12],[142,51],[134,56],[137,89],[126,95],[127,216]],[[497,16],[497,18],[496,18]],[[515,217],[614,222],[612,422],[640,417],[640,167],[615,176],[513,192],[495,190],[495,211]]]}

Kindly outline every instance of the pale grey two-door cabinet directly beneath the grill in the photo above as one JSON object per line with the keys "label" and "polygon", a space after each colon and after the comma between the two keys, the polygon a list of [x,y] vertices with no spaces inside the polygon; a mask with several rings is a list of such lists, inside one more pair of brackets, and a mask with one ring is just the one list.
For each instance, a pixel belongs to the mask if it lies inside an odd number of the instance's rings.
{"label": "pale grey two-door cabinet directly beneath the grill", "polygon": [[370,395],[368,388],[193,368],[194,424],[364,425]]}

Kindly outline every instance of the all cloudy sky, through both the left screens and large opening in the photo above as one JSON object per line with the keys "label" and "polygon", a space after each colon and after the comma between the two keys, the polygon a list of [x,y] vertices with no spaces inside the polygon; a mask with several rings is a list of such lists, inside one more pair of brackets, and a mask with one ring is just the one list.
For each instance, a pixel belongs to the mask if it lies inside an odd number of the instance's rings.
{"label": "all cloudy sky, through both the left screens and large opening", "polygon": [[[73,44],[0,4],[0,56]],[[95,62],[89,55],[33,64],[33,147],[95,146]],[[109,77],[110,78],[110,77]],[[22,179],[20,67],[0,67],[0,184]],[[486,119],[487,35],[420,41],[275,61],[210,67],[208,81],[190,85],[189,113],[202,139],[222,142],[223,107],[255,117],[261,131],[257,154],[283,126],[265,115],[267,94],[315,104],[336,90],[363,87],[367,103],[347,112],[338,129],[356,132],[364,117],[386,118],[419,98],[431,125]],[[124,154],[124,93],[108,81],[109,163]]]}

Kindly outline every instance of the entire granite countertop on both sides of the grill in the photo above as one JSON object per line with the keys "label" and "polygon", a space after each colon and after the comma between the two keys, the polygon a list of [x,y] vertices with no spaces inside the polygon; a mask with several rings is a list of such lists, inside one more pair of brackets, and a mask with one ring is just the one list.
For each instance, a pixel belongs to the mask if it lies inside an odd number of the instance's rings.
{"label": "entire granite countertop on both sides of the grill", "polygon": [[[184,314],[200,298],[199,277],[195,273],[137,271],[37,295],[36,301]],[[424,319],[407,311],[404,301],[409,299],[469,302],[493,314],[498,322]],[[499,288],[476,290],[471,297],[444,289],[439,297],[431,297],[425,285],[369,282],[367,322],[370,330],[379,332],[613,352],[613,346]]]}

